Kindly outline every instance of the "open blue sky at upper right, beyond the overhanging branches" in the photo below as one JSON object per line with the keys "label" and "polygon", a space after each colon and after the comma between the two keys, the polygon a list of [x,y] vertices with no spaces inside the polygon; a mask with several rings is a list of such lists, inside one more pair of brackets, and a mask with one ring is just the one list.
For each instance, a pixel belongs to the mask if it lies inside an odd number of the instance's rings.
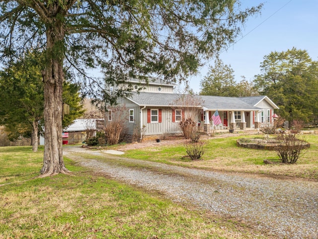
{"label": "open blue sky at upper right, beyond the overhanging branches", "polygon": [[[318,0],[242,2],[246,6],[264,2],[264,6],[261,14],[248,18],[242,31],[243,38],[239,37],[236,44],[221,54],[224,64],[231,65],[234,70],[236,81],[241,80],[240,76],[252,81],[254,75],[260,73],[259,65],[263,57],[272,51],[281,52],[296,47],[307,50],[313,60],[318,60]],[[214,60],[211,60],[199,70],[200,74],[189,79],[194,92],[200,92],[200,81],[213,63]]]}

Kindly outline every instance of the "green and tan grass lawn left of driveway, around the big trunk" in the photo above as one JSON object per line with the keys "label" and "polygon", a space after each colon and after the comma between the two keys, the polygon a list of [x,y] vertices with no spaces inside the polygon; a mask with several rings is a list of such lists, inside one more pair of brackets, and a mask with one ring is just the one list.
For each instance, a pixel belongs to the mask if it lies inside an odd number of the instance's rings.
{"label": "green and tan grass lawn left of driveway, around the big trunk", "polygon": [[0,147],[0,239],[266,238],[233,219],[191,211],[67,158],[73,175],[39,178],[41,150]]}

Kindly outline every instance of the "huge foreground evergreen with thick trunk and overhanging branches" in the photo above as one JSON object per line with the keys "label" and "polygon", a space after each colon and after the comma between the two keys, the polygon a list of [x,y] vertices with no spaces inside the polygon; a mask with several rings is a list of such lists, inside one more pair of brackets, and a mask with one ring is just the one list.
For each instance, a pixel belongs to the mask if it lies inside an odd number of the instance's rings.
{"label": "huge foreground evergreen with thick trunk and overhanging branches", "polygon": [[[240,9],[233,0],[1,0],[0,49],[4,64],[25,48],[44,48],[45,145],[43,176],[68,173],[62,152],[64,68],[87,77],[101,67],[106,84],[128,78],[184,80],[202,59],[234,42],[247,17],[262,5]],[[5,57],[7,56],[7,57]],[[147,79],[147,78],[146,78]],[[129,93],[102,92],[108,103]]]}

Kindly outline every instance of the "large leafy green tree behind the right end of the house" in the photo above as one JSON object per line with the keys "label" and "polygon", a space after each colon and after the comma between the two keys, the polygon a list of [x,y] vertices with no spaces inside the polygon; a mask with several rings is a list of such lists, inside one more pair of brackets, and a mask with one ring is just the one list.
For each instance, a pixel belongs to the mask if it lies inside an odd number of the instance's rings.
{"label": "large leafy green tree behind the right end of the house", "polygon": [[260,64],[262,74],[255,76],[255,88],[277,104],[281,117],[310,122],[318,112],[317,66],[306,50],[271,52]]}

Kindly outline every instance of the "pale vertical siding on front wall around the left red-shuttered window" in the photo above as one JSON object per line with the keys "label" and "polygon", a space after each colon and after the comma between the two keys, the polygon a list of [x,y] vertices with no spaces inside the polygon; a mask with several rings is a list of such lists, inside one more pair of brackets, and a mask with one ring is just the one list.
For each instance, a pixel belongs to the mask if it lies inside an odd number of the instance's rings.
{"label": "pale vertical siding on front wall around the left red-shuttered window", "polygon": [[[148,109],[161,109],[161,123],[147,122]],[[147,107],[143,110],[143,124],[146,126],[146,135],[180,132],[178,122],[172,122],[172,109],[170,107]]]}

